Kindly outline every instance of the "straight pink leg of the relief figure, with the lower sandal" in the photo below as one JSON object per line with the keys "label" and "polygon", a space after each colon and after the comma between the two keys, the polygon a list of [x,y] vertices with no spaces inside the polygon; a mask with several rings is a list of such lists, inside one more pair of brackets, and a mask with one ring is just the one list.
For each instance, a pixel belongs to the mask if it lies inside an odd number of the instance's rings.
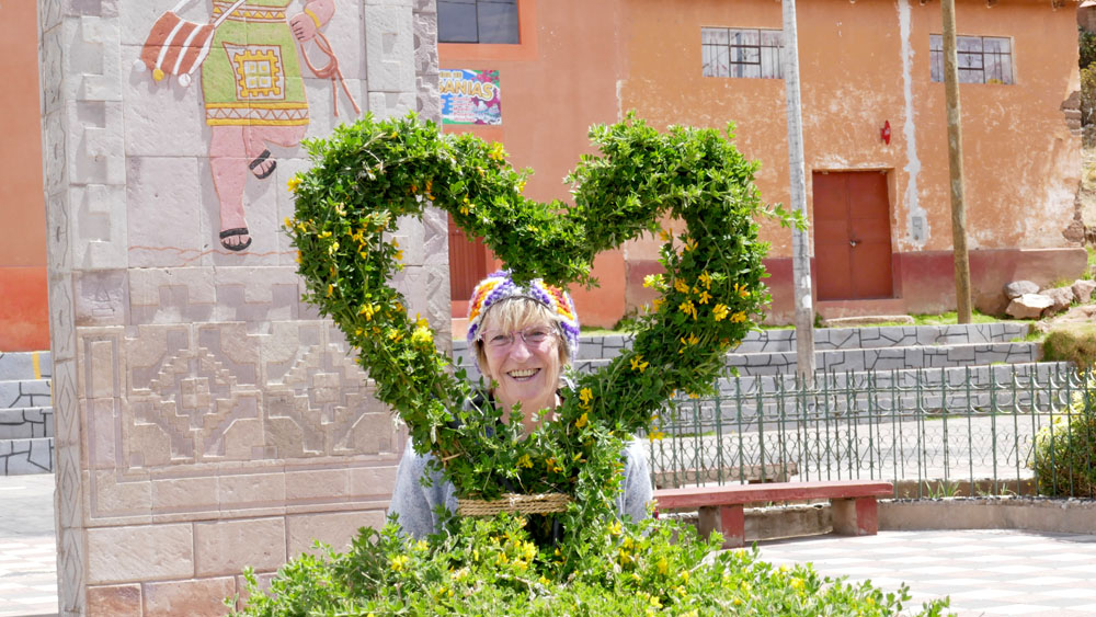
{"label": "straight pink leg of the relief figure, with the lower sandal", "polygon": [[[243,188],[248,182],[248,160],[243,126],[210,126],[209,168],[220,203],[220,245],[242,251],[251,245],[243,216]],[[273,162],[273,161],[272,161]]]}

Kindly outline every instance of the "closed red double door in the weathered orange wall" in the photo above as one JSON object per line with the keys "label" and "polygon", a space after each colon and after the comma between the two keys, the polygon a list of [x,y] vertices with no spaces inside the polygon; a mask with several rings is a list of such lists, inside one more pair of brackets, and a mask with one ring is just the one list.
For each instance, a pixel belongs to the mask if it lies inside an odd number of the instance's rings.
{"label": "closed red double door in the weathered orange wall", "polygon": [[818,299],[893,297],[887,174],[814,172],[813,188]]}

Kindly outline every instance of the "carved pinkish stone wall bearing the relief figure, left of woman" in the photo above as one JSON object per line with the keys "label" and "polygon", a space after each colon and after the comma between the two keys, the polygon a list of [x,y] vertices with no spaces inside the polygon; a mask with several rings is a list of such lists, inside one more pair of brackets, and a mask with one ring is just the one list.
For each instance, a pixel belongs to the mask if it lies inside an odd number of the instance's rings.
{"label": "carved pinkish stone wall bearing the relief figure, left of woman", "polygon": [[[174,4],[38,2],[66,616],[224,614],[246,565],[272,572],[313,538],[383,523],[403,447],[342,335],[300,301],[279,225],[301,137],[354,103],[437,119],[433,1],[253,0],[190,79],[176,45],[139,61]],[[207,24],[231,4],[179,16]],[[345,91],[302,65],[286,22],[304,9]],[[396,283],[448,345],[445,215],[397,236]]]}

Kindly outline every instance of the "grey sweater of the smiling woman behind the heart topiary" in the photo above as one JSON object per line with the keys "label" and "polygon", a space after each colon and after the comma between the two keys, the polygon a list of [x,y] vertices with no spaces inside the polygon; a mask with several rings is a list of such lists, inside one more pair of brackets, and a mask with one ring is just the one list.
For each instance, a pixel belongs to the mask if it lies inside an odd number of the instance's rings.
{"label": "grey sweater of the smiling woman behind the heart topiary", "polygon": [[[617,513],[639,521],[647,516],[647,504],[653,493],[647,448],[637,439],[625,448],[624,455],[624,487],[617,495]],[[449,512],[457,511],[457,489],[453,482],[445,480],[441,471],[431,476],[430,487],[423,487],[419,482],[425,473],[426,464],[433,458],[431,454],[415,454],[411,439],[408,439],[403,458],[396,470],[396,490],[388,514],[399,515],[397,522],[400,527],[415,538],[425,537],[438,529],[438,518],[434,512],[438,504],[445,504]]]}

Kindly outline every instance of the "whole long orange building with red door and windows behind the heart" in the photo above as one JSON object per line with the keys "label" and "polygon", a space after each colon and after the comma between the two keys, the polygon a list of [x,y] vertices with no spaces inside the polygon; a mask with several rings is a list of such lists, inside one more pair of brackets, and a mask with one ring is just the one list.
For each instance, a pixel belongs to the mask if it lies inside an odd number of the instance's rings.
{"label": "whole long orange building with red door and windows behind the heart", "polygon": [[[517,43],[446,43],[449,3],[438,2],[441,69],[498,70],[502,122],[446,128],[503,141],[516,167],[536,170],[530,197],[566,198],[560,179],[590,151],[586,128],[636,110],[659,127],[735,123],[739,149],[761,161],[763,198],[788,204],[780,2],[516,0]],[[1074,204],[1076,4],[957,4],[973,302],[1000,312],[1004,284],[1072,281],[1085,264]],[[798,5],[818,311],[954,309],[939,3]],[[763,236],[772,243],[772,319],[790,321],[790,232],[767,225]],[[463,279],[491,266],[481,252],[452,243],[452,263],[471,264],[454,271],[455,300],[467,296]],[[575,298],[584,322],[612,324],[648,301],[641,283],[660,270],[657,256],[653,240],[601,255],[602,287]]]}

